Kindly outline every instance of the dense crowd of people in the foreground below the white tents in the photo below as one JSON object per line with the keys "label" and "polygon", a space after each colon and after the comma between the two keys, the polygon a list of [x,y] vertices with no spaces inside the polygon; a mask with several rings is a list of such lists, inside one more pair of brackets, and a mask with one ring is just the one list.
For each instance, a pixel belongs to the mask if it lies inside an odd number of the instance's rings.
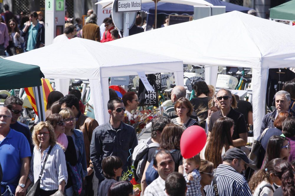
{"label": "dense crowd of people in the foreground below the white tents", "polygon": [[[32,133],[17,121],[22,100],[8,97],[0,108],[1,194],[26,195],[39,182],[42,196],[57,192],[68,196],[295,195],[295,117],[290,95],[295,83],[287,82],[276,93],[276,109],[263,118],[258,163],[248,158],[245,148],[252,108],[238,106],[239,98],[228,89],[214,94],[205,82],[197,82],[194,88],[192,100],[185,98],[183,86],[173,88],[173,105],[152,120],[151,137],[144,143],[138,143],[134,128],[123,123],[126,115],[135,118],[132,113],[139,102],[134,92],[121,99],[110,89],[110,120],[98,125],[83,114],[80,91],[66,96],[52,91],[46,121],[34,125]],[[199,154],[185,159],[181,136],[194,125],[207,130],[207,142]],[[139,160],[141,169],[134,165],[133,171],[140,189],[120,180],[130,170],[139,146],[146,149]],[[258,170],[245,176],[252,166]]]}

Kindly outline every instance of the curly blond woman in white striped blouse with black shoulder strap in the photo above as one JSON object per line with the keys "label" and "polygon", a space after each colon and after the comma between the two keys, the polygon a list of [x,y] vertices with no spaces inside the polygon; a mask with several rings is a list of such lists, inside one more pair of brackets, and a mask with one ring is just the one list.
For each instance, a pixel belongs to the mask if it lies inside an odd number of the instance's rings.
{"label": "curly blond woman in white striped blouse with black shoulder strap", "polygon": [[56,144],[54,129],[50,122],[38,123],[34,127],[32,139],[35,147],[32,154],[29,178],[26,182],[25,191],[31,183],[35,183],[38,180],[45,157],[50,146],[52,146],[53,148],[48,155],[40,180],[40,195],[49,196],[58,190],[64,192],[65,184],[68,180],[65,153],[60,146]]}

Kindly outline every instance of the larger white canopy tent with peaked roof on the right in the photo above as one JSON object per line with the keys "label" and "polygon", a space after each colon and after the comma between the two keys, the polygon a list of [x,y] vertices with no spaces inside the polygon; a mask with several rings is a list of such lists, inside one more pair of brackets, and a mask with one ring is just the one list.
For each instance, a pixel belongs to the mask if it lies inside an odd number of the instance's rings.
{"label": "larger white canopy tent with peaked roof on the right", "polygon": [[140,48],[182,59],[183,63],[204,65],[206,82],[214,86],[217,66],[253,68],[253,120],[257,137],[265,114],[268,68],[294,66],[294,34],[292,26],[232,11],[107,44]]}

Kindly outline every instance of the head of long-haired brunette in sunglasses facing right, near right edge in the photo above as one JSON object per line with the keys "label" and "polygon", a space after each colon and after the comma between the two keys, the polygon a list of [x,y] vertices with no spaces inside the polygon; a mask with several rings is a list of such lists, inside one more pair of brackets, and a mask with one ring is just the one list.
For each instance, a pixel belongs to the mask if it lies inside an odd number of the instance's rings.
{"label": "head of long-haired brunette in sunglasses facing right, near right edge", "polygon": [[288,161],[290,156],[290,143],[287,138],[273,135],[269,138],[266,153],[263,160],[262,169],[266,168],[268,162],[275,158]]}

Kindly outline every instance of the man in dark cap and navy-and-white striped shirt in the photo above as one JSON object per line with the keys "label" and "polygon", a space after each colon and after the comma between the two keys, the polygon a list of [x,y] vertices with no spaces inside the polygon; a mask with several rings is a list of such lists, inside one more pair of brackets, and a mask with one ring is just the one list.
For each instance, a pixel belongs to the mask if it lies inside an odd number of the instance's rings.
{"label": "man in dark cap and navy-and-white striped shirt", "polygon": [[245,176],[241,172],[249,165],[253,165],[253,161],[248,159],[246,154],[238,148],[227,150],[222,155],[222,161],[222,164],[218,165],[216,169],[213,183],[204,187],[206,195],[215,196],[214,190],[216,190],[220,196],[252,196]]}

